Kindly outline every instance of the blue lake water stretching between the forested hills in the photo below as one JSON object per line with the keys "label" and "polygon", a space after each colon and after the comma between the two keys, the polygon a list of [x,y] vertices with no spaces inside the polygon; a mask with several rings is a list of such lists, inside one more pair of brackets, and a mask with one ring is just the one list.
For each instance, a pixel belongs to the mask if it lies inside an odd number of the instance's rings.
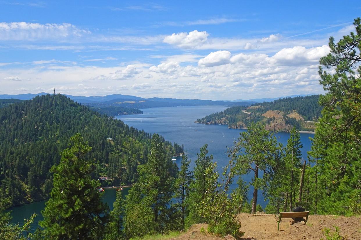
{"label": "blue lake water stretching between the forested hills", "polygon": [[[184,144],[185,153],[191,162],[191,168],[194,167],[194,161],[197,159],[197,153],[204,144],[208,144],[209,154],[213,155],[214,162],[217,162],[218,171],[226,166],[229,159],[227,158],[227,147],[233,145],[233,141],[239,137],[239,133],[245,130],[230,129],[224,125],[206,125],[195,123],[197,118],[203,118],[208,114],[221,112],[226,109],[225,106],[196,106],[196,107],[167,107],[167,108],[147,108],[141,109],[144,114],[139,115],[122,115],[117,116],[129,126],[144,130],[149,133],[159,133],[167,141]],[[279,132],[277,138],[283,145],[287,144],[290,133]],[[307,151],[311,150],[311,133],[301,133],[301,149],[303,159],[307,159]],[[178,157],[176,163],[180,166],[181,158]],[[245,181],[250,181],[252,175],[243,176]],[[235,187],[232,185],[231,187]],[[122,194],[126,195],[129,189],[125,188]],[[248,198],[252,198],[252,188],[249,189]],[[109,208],[113,208],[113,202],[116,197],[115,189],[105,189],[102,196],[103,201],[108,203]],[[12,222],[22,223],[24,218],[29,218],[32,213],[38,214],[35,218],[33,228],[36,228],[38,221],[42,220],[41,210],[44,209],[46,200],[24,204],[10,208],[12,210]],[[263,195],[258,193],[258,204],[266,206]]]}

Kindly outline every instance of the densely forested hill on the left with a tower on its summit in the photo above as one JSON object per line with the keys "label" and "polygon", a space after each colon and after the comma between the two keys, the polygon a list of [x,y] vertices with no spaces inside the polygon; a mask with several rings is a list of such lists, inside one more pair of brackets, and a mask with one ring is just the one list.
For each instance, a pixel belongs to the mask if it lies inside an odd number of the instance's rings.
{"label": "densely forested hill on the left with a tower on its summit", "polygon": [[[75,133],[92,146],[88,157],[99,161],[93,178],[108,176],[110,184],[137,180],[138,165],[147,162],[148,133],[66,96],[48,94],[0,109],[0,197],[9,197],[12,204],[47,198],[52,188],[49,169],[59,163],[60,152]],[[182,151],[169,142],[164,148],[169,157]]]}

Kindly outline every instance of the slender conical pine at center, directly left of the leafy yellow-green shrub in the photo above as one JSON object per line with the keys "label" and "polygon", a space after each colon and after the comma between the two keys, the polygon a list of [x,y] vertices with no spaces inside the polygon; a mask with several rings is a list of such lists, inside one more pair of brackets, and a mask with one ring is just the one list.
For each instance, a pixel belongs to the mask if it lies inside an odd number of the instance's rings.
{"label": "slender conical pine at center, directly left of the leafy yellow-green shrub", "polygon": [[194,182],[190,185],[189,197],[186,200],[188,205],[189,215],[186,218],[186,227],[191,226],[193,223],[204,222],[204,218],[198,214],[198,204],[204,200],[205,192],[207,189],[206,182],[206,169],[212,164],[213,155],[207,156],[207,144],[200,148],[200,153],[197,153],[196,166],[194,167]]}

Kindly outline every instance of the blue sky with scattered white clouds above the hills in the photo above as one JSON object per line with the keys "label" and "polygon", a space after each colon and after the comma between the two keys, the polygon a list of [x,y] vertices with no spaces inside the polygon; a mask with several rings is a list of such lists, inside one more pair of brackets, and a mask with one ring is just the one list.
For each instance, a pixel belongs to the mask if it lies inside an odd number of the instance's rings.
{"label": "blue sky with scattered white clouds above the hills", "polygon": [[0,94],[251,99],[322,93],[359,1],[2,1]]}

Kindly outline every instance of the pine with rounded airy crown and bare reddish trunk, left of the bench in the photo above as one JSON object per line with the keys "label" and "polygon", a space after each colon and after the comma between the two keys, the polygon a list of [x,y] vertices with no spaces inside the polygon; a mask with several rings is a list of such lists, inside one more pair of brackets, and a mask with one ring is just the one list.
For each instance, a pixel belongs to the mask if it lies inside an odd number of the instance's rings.
{"label": "pine with rounded airy crown and bare reddish trunk, left of the bench", "polygon": [[[256,212],[258,189],[266,189],[266,177],[271,166],[275,162],[274,153],[279,149],[276,137],[266,130],[264,126],[251,123],[247,132],[240,133],[238,142],[239,148],[244,148],[244,153],[238,157],[237,168],[240,175],[253,171],[254,178],[251,185],[253,190],[252,211]],[[264,177],[259,176],[259,171],[263,171]]]}

